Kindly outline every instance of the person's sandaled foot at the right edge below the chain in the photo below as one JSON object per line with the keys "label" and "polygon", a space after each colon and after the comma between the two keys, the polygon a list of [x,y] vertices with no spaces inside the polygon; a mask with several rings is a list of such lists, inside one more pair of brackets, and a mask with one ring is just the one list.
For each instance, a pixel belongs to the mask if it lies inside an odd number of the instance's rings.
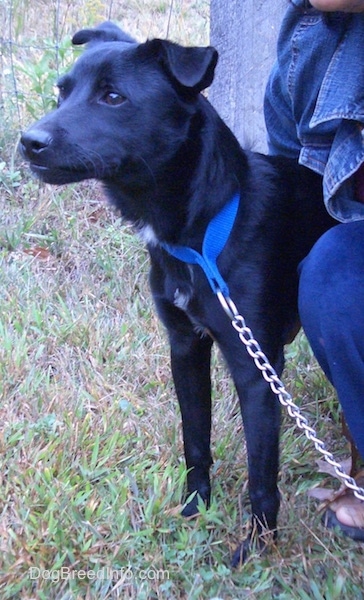
{"label": "person's sandaled foot at the right edge below the chain", "polygon": [[[359,487],[364,488],[364,470],[355,477]],[[322,518],[328,528],[337,528],[347,537],[364,542],[364,502],[344,488],[328,504]]]}

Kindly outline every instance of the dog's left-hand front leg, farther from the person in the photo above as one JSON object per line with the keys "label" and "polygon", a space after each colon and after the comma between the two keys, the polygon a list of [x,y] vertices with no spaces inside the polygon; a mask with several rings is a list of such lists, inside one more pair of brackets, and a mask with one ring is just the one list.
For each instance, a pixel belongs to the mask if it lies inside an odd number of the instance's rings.
{"label": "dog's left-hand front leg, farther from the person", "polygon": [[[196,492],[182,514],[198,512],[198,497],[210,502],[211,433],[211,346],[210,336],[197,333],[186,312],[176,306],[175,291],[180,295],[189,288],[188,268],[174,259],[159,261],[157,250],[151,252],[150,285],[158,315],[167,328],[171,349],[174,385],[182,414],[184,453],[186,458],[187,497]],[[184,286],[184,288],[183,288]]]}

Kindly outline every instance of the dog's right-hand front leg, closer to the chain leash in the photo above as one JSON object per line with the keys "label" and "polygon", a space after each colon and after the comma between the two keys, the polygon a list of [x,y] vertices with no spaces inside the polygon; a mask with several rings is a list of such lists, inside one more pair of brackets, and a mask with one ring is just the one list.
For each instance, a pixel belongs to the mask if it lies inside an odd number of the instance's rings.
{"label": "dog's right-hand front leg, closer to the chain leash", "polygon": [[234,553],[232,564],[237,566],[252,548],[263,550],[276,537],[280,405],[239,341],[237,345],[229,333],[219,342],[238,392],[248,455],[252,526],[248,539]]}

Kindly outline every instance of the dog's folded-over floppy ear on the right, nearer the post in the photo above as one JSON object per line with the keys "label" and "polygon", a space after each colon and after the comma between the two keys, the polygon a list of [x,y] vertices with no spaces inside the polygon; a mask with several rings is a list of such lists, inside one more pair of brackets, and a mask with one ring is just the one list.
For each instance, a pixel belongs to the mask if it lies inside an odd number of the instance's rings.
{"label": "dog's folded-over floppy ear on the right, nearer the post", "polygon": [[218,53],[212,46],[184,47],[168,40],[152,40],[159,62],[183,87],[192,92],[201,92],[209,87],[214,78]]}

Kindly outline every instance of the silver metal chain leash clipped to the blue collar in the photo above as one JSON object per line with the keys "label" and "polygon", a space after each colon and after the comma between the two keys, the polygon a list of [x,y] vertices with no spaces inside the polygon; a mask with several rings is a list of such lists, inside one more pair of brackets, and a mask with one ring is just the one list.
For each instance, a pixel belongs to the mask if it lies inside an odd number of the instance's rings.
{"label": "silver metal chain leash clipped to the blue collar", "polygon": [[344,482],[346,487],[351,489],[359,500],[364,500],[364,489],[356,484],[355,479],[345,473],[341,464],[326,449],[325,443],[317,437],[315,429],[309,425],[306,417],[301,414],[299,407],[293,402],[292,396],[287,392],[275,369],[269,363],[264,352],[262,352],[258,342],[254,339],[252,330],[246,326],[245,319],[239,314],[234,302],[231,298],[224,296],[221,290],[217,291],[217,297],[225,313],[231,320],[232,326],[238,332],[239,338],[245,345],[248,354],[254,360],[264,379],[269,383],[279,402],[287,409],[289,416],[296,420],[299,429],[305,432],[306,437],[313,442],[316,450],[323,455],[326,462],[334,467],[335,473]]}

